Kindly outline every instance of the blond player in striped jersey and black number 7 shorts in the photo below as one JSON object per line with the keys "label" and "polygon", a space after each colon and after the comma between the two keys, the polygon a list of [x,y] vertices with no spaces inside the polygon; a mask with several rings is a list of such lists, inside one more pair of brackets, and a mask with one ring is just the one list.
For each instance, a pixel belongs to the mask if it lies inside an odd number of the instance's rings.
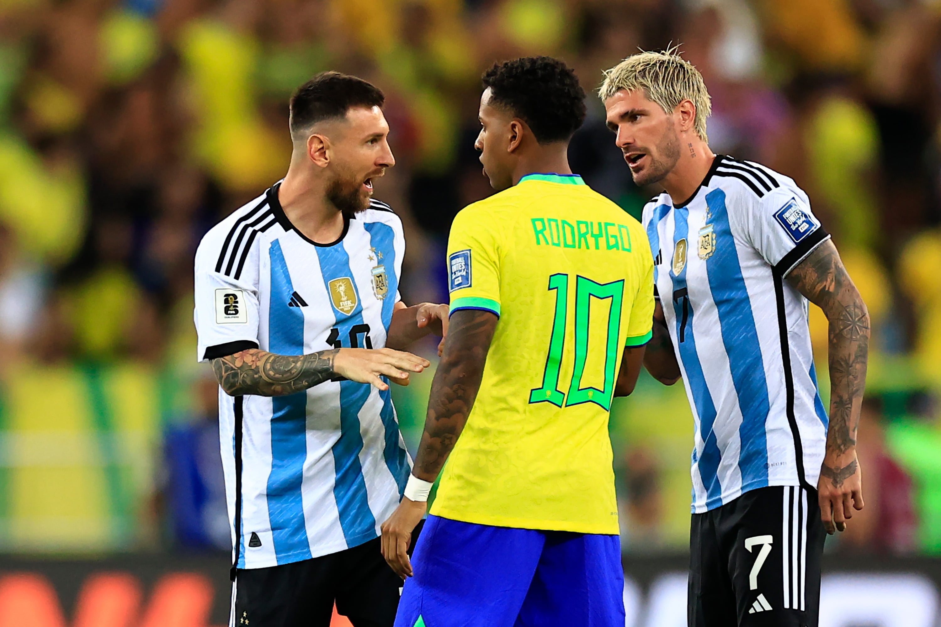
{"label": "blond player in striped jersey and black number 7 shorts", "polygon": [[[793,180],[713,154],[710,96],[675,50],[630,56],[599,95],[638,185],[660,297],[645,366],[695,419],[689,624],[816,626],[824,530],[862,509],[856,426],[869,314]],[[817,389],[807,301],[830,325]]]}

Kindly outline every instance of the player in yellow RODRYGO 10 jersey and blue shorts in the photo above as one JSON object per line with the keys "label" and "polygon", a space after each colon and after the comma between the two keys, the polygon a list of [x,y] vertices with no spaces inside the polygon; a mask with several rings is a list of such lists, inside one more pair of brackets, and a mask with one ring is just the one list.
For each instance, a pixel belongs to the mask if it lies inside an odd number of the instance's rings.
{"label": "player in yellow RODRYGO 10 jersey and blue shorts", "polygon": [[410,576],[395,625],[623,627],[608,417],[650,338],[653,259],[640,224],[568,166],[585,117],[575,74],[520,58],[484,86],[475,147],[500,193],[451,228],[450,332],[382,527],[383,554]]}

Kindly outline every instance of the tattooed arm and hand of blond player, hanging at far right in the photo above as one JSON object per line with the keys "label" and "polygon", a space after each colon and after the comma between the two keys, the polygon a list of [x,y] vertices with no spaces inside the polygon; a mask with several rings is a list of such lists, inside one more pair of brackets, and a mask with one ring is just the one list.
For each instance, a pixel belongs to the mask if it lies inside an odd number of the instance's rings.
{"label": "tattooed arm and hand of blond player, hanging at far right", "polygon": [[821,243],[788,281],[820,306],[829,322],[830,428],[818,493],[823,525],[832,534],[846,528],[853,508],[863,509],[856,428],[866,387],[869,311],[832,242]]}

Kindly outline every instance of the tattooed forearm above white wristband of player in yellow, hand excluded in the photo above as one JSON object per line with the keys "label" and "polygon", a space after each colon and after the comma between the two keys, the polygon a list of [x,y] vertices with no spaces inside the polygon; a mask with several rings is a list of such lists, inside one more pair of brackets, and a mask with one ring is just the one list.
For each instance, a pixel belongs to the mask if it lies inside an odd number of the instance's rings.
{"label": "tattooed forearm above white wristband of player in yellow, hand excluded", "polygon": [[434,481],[455,447],[477,398],[496,328],[497,317],[489,311],[463,309],[451,317],[444,355],[431,384],[422,443],[412,470],[415,477]]}

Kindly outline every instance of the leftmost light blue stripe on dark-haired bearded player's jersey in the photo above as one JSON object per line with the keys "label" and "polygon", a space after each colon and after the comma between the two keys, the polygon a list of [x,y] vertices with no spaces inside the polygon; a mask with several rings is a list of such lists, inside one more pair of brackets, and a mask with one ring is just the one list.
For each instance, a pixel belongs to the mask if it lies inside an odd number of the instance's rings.
{"label": "leftmost light blue stripe on dark-haired bearded player's jersey", "polygon": [[[304,314],[289,307],[294,286],[278,240],[271,258],[271,301],[268,350],[304,354]],[[271,474],[268,476],[268,517],[279,564],[311,557],[304,525],[301,480],[307,458],[307,392],[271,400]],[[244,554],[243,554],[244,555]]]}

